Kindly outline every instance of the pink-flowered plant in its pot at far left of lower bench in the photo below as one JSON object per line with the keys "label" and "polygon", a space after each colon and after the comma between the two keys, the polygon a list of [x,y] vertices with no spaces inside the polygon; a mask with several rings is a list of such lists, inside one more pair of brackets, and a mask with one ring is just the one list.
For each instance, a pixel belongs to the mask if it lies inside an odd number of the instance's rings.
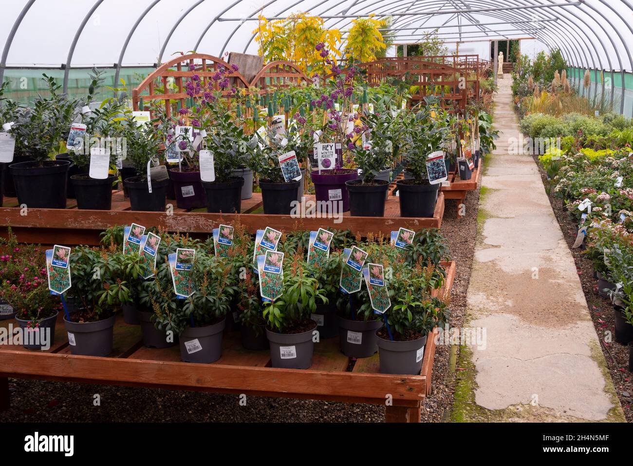
{"label": "pink-flowered plant in its pot at far left of lower bench", "polygon": [[25,348],[49,349],[61,303],[49,291],[42,251],[39,246],[18,244],[10,229],[2,249],[0,301],[13,309]]}

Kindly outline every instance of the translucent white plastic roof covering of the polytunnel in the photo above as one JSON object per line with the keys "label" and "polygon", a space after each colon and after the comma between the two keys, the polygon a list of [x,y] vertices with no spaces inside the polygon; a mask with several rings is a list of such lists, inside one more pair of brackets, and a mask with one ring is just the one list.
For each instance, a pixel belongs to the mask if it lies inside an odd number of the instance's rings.
{"label": "translucent white plastic roof covering of the polytunnel", "polygon": [[[0,68],[142,66],[195,50],[257,53],[257,17],[298,11],[346,30],[351,20],[392,16],[396,42],[436,28],[446,42],[534,38],[570,65],[630,71],[628,0],[2,0]],[[469,44],[470,45],[470,44]],[[633,47],[632,47],[633,48]],[[488,57],[484,57],[488,58]],[[3,69],[0,70],[0,73]]]}

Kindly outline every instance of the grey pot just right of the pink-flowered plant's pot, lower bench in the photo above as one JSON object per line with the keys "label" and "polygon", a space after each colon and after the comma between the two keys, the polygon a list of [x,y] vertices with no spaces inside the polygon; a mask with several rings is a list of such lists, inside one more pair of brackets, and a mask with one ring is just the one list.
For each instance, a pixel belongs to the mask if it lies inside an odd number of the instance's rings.
{"label": "grey pot just right of the pink-flowered plant's pot, lower bench", "polygon": [[70,353],[78,356],[108,356],[112,353],[112,338],[116,316],[96,322],[69,322],[64,317]]}

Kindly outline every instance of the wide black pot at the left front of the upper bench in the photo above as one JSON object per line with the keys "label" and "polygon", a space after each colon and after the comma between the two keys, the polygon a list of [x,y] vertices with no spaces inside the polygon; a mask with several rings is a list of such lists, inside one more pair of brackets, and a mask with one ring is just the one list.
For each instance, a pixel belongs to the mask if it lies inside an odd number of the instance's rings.
{"label": "wide black pot at the left front of the upper bench", "polygon": [[18,203],[29,209],[66,209],[66,173],[68,160],[20,162],[9,165],[17,191]]}

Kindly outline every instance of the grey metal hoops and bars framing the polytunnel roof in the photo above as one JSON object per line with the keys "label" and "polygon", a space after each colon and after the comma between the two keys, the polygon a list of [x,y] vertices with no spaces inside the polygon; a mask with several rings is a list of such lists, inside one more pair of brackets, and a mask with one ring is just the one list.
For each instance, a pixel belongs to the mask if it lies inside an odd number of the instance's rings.
{"label": "grey metal hoops and bars framing the polytunnel roof", "polygon": [[[27,15],[30,8],[35,4],[35,1],[36,0],[28,0],[27,3],[25,3],[25,5],[22,8],[22,11],[20,11],[15,22],[13,23],[13,27],[11,27],[11,30],[9,31],[9,35],[6,39],[6,43],[3,49],[3,54],[0,59],[0,82],[2,81],[4,77],[4,70],[6,69],[6,59],[8,57],[9,50],[11,49],[13,38],[15,37],[15,34],[18,28],[20,27],[20,24],[22,23],[23,18]],[[196,46],[194,46],[194,49],[197,49],[199,47],[199,45],[204,39],[204,36],[206,36],[206,33],[211,29],[211,26],[213,26],[213,24],[215,24],[216,22],[237,21],[239,22],[239,24],[234,28],[234,30],[232,30],[229,37],[227,37],[227,40],[225,41],[225,44],[222,47],[222,51],[220,51],[220,53],[218,54],[222,56],[225,48],[229,44],[230,39],[234,36],[237,30],[239,30],[242,27],[242,25],[244,25],[245,22],[256,19],[254,18],[254,16],[257,13],[262,11],[267,6],[272,6],[273,4],[277,3],[277,1],[279,0],[269,0],[260,8],[257,8],[256,10],[254,10],[253,13],[251,13],[251,15],[249,15],[246,18],[223,18],[222,15],[227,13],[227,11],[230,11],[232,8],[234,8],[234,6],[237,6],[237,4],[241,3],[241,0],[235,0],[233,3],[229,4],[229,6],[224,8],[220,13],[218,13],[213,18],[213,20],[211,20],[211,22],[204,28],[203,32],[197,39]],[[283,15],[285,13],[285,11],[291,10],[291,8],[294,8],[294,6],[297,6],[298,4],[303,3],[304,1],[305,0],[297,0],[294,3],[291,3],[288,6],[285,6],[284,9],[281,10],[279,13],[277,13],[277,15],[275,16],[279,18],[280,15]],[[318,8],[319,6],[322,6],[324,3],[327,3],[328,1],[329,0],[320,0],[318,3],[315,3],[310,8],[304,9],[304,11],[310,11],[310,10],[313,10],[314,8]],[[599,1],[600,4],[606,6],[606,8],[608,8],[609,10],[613,11],[613,13],[615,13],[615,15],[618,18],[620,18],[622,23],[629,29],[630,33],[633,35],[633,27],[631,27],[629,22],[625,20],[624,16],[620,14],[619,11],[617,11],[615,8],[613,8],[611,4],[608,3],[608,0],[597,0],[597,1]],[[115,85],[116,85],[116,82],[118,82],[118,76],[120,75],[120,69],[122,67],[123,56],[125,56],[125,51],[127,49],[127,46],[130,40],[132,39],[132,36],[134,36],[135,30],[137,29],[139,24],[142,22],[144,17],[147,15],[147,13],[149,13],[149,11],[151,11],[151,9],[154,8],[154,6],[156,6],[156,4],[158,4],[159,2],[160,0],[154,0],[152,3],[150,3],[147,6],[147,8],[144,11],[142,11],[141,15],[138,16],[134,25],[128,32],[125,42],[123,43],[122,49],[120,51],[118,62],[115,64],[116,66]],[[334,10],[338,6],[341,6],[342,4],[346,4],[348,2],[349,0],[341,0],[338,3],[334,4],[334,6],[329,6],[329,8],[323,11],[323,13],[327,13],[327,11]],[[329,20],[337,20],[334,22],[334,25],[337,25],[342,22],[343,23],[342,27],[346,27],[349,25],[349,23],[351,23],[351,20],[353,20],[354,18],[362,18],[362,17],[367,17],[370,15],[370,13],[360,13],[361,11],[367,10],[367,8],[382,8],[382,6],[387,6],[385,5],[385,2],[387,2],[388,6],[390,7],[389,10],[373,12],[373,15],[396,17],[397,19],[394,21],[394,23],[392,23],[391,25],[392,27],[402,22],[406,22],[407,25],[411,25],[412,23],[417,22],[418,20],[422,20],[422,18],[427,18],[427,20],[429,20],[430,18],[432,18],[432,16],[451,14],[453,16],[451,16],[448,20],[446,20],[446,22],[451,21],[454,18],[458,18],[458,21],[460,22],[460,24],[458,25],[451,25],[452,27],[459,29],[459,31],[456,32],[455,34],[459,34],[461,37],[461,34],[466,34],[466,32],[462,32],[461,30],[462,27],[477,27],[477,29],[479,29],[479,32],[481,34],[485,34],[485,36],[480,37],[482,39],[482,42],[486,40],[488,41],[503,40],[503,39],[492,39],[491,37],[488,37],[489,34],[495,34],[496,36],[499,36],[502,38],[505,37],[506,39],[508,39],[508,37],[503,36],[503,34],[499,34],[499,32],[494,32],[494,30],[491,30],[489,28],[484,28],[483,25],[480,25],[480,22],[471,15],[471,13],[477,13],[482,16],[491,16],[492,18],[498,18],[500,20],[503,19],[503,20],[506,20],[508,24],[515,24],[516,26],[518,24],[516,21],[520,21],[524,19],[524,16],[522,16],[521,14],[524,13],[525,11],[527,10],[541,11],[541,9],[546,10],[547,13],[550,13],[555,18],[558,18],[558,20],[560,20],[556,22],[556,25],[561,25],[563,27],[564,32],[566,32],[569,35],[567,39],[571,37],[573,40],[570,42],[567,42],[565,40],[566,37],[563,36],[563,31],[558,29],[556,26],[549,25],[549,23],[544,25],[544,27],[542,27],[542,32],[539,32],[539,34],[534,34],[534,37],[538,41],[541,41],[542,43],[544,43],[550,49],[553,49],[553,48],[560,49],[561,53],[563,53],[563,55],[566,57],[566,60],[572,62],[570,63],[570,65],[578,68],[577,71],[579,74],[580,74],[580,68],[584,68],[583,60],[582,60],[583,57],[584,57],[584,62],[587,64],[586,65],[587,69],[591,68],[591,70],[593,71],[599,70],[601,74],[604,74],[605,72],[607,72],[607,70],[603,66],[601,54],[599,53],[595,40],[592,39],[592,37],[590,37],[589,34],[587,34],[587,30],[591,31],[593,36],[595,36],[595,39],[597,39],[599,46],[602,49],[603,55],[605,55],[606,61],[608,62],[608,67],[610,68],[611,105],[613,105],[613,98],[615,94],[615,86],[614,86],[615,83],[614,83],[613,78],[614,78],[615,70],[613,69],[613,64],[611,63],[611,55],[609,53],[609,49],[605,46],[605,43],[602,41],[599,34],[597,34],[596,31],[592,29],[589,23],[584,18],[580,17],[574,12],[574,11],[580,11],[584,15],[587,15],[589,18],[592,18],[591,11],[593,11],[594,13],[597,13],[601,18],[603,18],[603,20],[605,20],[605,22],[608,23],[609,27],[613,30],[613,32],[617,34],[619,42],[620,42],[620,46],[622,49],[626,51],[627,57],[629,58],[630,67],[632,68],[632,72],[633,72],[633,56],[631,55],[629,46],[627,46],[627,42],[625,41],[624,37],[622,37],[620,30],[618,30],[617,27],[613,25],[613,22],[611,22],[610,18],[608,18],[607,16],[603,14],[603,11],[598,10],[598,8],[595,8],[591,4],[584,3],[584,0],[568,1],[565,3],[560,3],[560,2],[556,3],[555,0],[548,0],[547,2],[541,2],[539,0],[429,0],[429,1],[401,0],[401,1],[397,1],[396,3],[392,3],[392,2],[389,3],[389,0],[354,0],[351,4],[346,5],[345,10],[342,10],[341,13],[339,14],[335,14],[335,15],[324,15],[323,13],[315,13],[315,14],[324,18],[325,22],[328,22]],[[63,89],[65,92],[68,89],[68,79],[70,75],[72,57],[75,51],[75,47],[77,46],[77,42],[80,39],[82,32],[84,31],[85,24],[94,14],[94,11],[96,11],[97,8],[99,8],[99,6],[101,6],[102,3],[103,3],[103,0],[96,0],[96,2],[92,5],[90,10],[85,15],[82,22],[80,23],[80,26],[78,27],[77,32],[75,32],[75,36],[73,37],[73,41],[70,45],[70,49],[68,50],[68,57],[66,58],[66,63],[65,65],[62,65],[62,67],[64,68]],[[159,62],[162,60],[162,57],[165,53],[166,46],[168,45],[168,42],[173,36],[173,33],[175,32],[175,30],[179,27],[180,23],[182,23],[184,18],[186,18],[197,6],[199,6],[202,3],[204,3],[204,0],[197,0],[194,4],[192,4],[189,8],[187,8],[187,10],[185,10],[184,13],[173,24],[172,29],[170,30],[168,36],[166,36],[165,42],[163,42],[163,46],[161,47],[160,55],[158,58]],[[625,6],[629,8],[629,10],[633,11],[633,6],[629,2],[629,0],[620,0],[620,3],[624,4]],[[412,8],[417,8],[418,6],[420,6],[420,8],[432,8],[436,4],[441,4],[441,6],[439,6],[439,10],[412,10]],[[454,10],[442,11],[442,8],[444,8],[447,4],[451,4]],[[463,5],[463,8],[460,8],[460,4]],[[501,4],[501,7],[499,7],[499,4]],[[354,11],[351,11],[354,7],[356,7]],[[574,7],[577,8],[577,10],[573,10]],[[398,11],[398,8],[406,8],[406,10]],[[590,9],[591,11],[587,11],[586,9]],[[572,20],[572,18],[570,18],[568,15],[562,14],[560,10],[563,10],[565,13],[570,13],[570,15],[572,15],[573,18],[575,18],[575,20]],[[273,16],[273,18],[275,18],[275,16]],[[468,20],[469,23],[461,24],[461,18],[465,18],[466,20]],[[548,19],[548,18],[535,18],[534,21],[539,22],[539,20],[544,20],[544,19]],[[626,71],[625,71],[624,65],[622,64],[622,57],[620,56],[620,47],[617,46],[616,42],[614,41],[614,38],[611,37],[611,34],[609,34],[609,32],[605,29],[605,26],[603,25],[603,23],[599,22],[595,18],[592,18],[592,20],[594,21],[594,23],[598,25],[599,29],[602,30],[605,36],[608,37],[611,47],[613,48],[613,52],[615,53],[615,56],[617,58],[618,65],[620,66],[620,77],[621,77],[620,89],[622,89],[620,113],[624,113],[624,100],[625,100],[625,90],[626,90],[625,72]],[[446,24],[446,22],[444,24]],[[415,28],[414,32],[419,29],[422,29],[425,23],[426,21],[424,21],[419,27]],[[584,25],[584,27],[582,27],[581,24]],[[429,29],[429,27],[427,27],[427,29]],[[397,29],[394,29],[394,30],[397,30]],[[517,30],[523,31],[526,34],[532,34],[532,32],[530,32],[530,28],[517,26]],[[534,31],[534,29],[532,29],[532,31]],[[471,33],[475,33],[475,32],[477,31],[471,31]],[[420,33],[420,36],[422,36],[422,34],[423,33]],[[245,51],[246,49],[248,49],[248,47],[250,46],[255,36],[256,34],[251,35],[251,39],[249,39],[249,41],[246,44],[246,47],[244,48]],[[411,34],[409,36],[416,36],[416,34]],[[474,37],[474,38],[477,39],[479,37]],[[397,34],[396,34],[396,39],[397,39]],[[557,42],[556,39],[558,39],[560,42]],[[598,66],[596,66],[596,60],[594,59],[594,56],[591,53],[592,49],[596,58],[598,59]],[[589,51],[589,58],[591,58],[591,64],[589,63],[589,60],[587,59],[587,53],[586,53],[587,51]],[[584,95],[584,89],[582,89],[582,86],[581,86],[582,78],[580,76],[578,77],[577,82],[578,82],[580,93]],[[597,93],[598,93],[598,89],[596,87],[596,94]],[[604,93],[605,93],[605,86],[603,83],[602,84],[603,98],[604,98]],[[591,97],[591,88],[587,89],[587,96]]]}

